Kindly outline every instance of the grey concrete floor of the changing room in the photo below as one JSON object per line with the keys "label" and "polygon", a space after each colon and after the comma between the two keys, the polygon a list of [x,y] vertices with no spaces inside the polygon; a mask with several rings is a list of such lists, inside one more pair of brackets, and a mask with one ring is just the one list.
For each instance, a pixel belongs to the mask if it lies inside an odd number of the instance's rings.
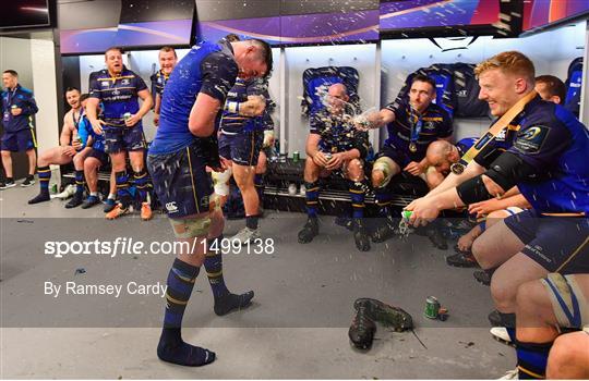
{"label": "grey concrete floor of the changing room", "polygon": [[[118,236],[172,241],[165,217],[105,221],[99,207],[65,210],[59,200],[27,206],[37,190],[0,192],[1,378],[491,379],[514,367],[514,351],[489,335],[489,288],[474,282],[472,270],[447,267],[449,250],[410,236],[359,253],[330,217],[322,219],[313,243],[299,245],[304,217],[285,212],[269,212],[261,222],[274,253],[242,249],[224,257],[229,287],[255,291],[250,308],[216,317],[204,271],[199,276],[183,336],[215,351],[217,361],[204,368],[164,364],[155,355],[159,296],[55,298],[44,294],[44,284],[164,283],[173,256],[55,258],[44,255],[44,245]],[[228,222],[226,235],[242,224]],[[447,321],[422,317],[429,295],[449,309]],[[370,352],[353,351],[347,330],[352,303],[363,296],[409,311],[414,334],[378,327]]]}

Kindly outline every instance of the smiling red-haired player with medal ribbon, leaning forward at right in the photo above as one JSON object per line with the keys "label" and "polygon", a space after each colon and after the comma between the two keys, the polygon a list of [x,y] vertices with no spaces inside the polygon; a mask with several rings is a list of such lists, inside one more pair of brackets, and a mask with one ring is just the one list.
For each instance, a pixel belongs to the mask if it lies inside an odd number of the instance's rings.
{"label": "smiling red-haired player with medal ribbon, leaning forward at right", "polygon": [[[500,53],[480,63],[476,73],[479,98],[489,102],[495,116],[529,98],[512,121],[518,131],[508,142],[510,147],[497,150],[491,143],[461,174],[448,175],[407,209],[413,212],[410,222],[419,225],[441,210],[501,197],[518,187],[532,208],[498,221],[472,246],[483,269],[496,268],[491,293],[513,336],[519,285],[551,272],[589,272],[589,134],[561,106],[532,98],[534,67],[520,52]],[[534,352],[527,343],[517,344]],[[545,354],[537,351],[536,355]]]}

